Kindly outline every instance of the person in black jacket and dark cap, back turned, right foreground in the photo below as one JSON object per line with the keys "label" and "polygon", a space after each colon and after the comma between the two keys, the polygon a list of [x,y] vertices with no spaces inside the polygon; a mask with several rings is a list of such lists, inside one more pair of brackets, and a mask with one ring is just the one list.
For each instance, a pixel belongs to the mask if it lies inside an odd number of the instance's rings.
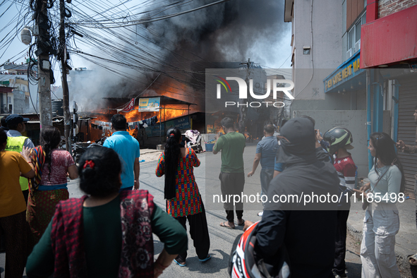
{"label": "person in black jacket and dark cap, back turned, right foreground", "polygon": [[[337,196],[339,178],[329,155],[315,147],[311,119],[291,119],[281,135],[278,162],[286,168],[270,183],[256,251],[262,258],[270,258],[284,246],[291,277],[333,278],[339,199],[331,196]],[[323,198],[306,202],[313,195],[326,196],[326,202],[320,202]]]}

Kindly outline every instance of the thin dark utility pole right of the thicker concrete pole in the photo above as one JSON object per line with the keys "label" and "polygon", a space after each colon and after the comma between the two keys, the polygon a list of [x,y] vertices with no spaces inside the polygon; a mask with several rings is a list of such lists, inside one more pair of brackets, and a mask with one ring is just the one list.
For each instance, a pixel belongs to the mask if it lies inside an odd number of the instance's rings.
{"label": "thin dark utility pole right of the thicker concrete pole", "polygon": [[[65,40],[65,2],[59,0],[59,11],[61,12],[61,23],[59,25],[59,56],[61,60],[61,81],[62,81],[62,108],[64,109],[64,132],[66,140],[66,150],[71,150],[71,114],[69,111],[68,103],[68,83],[66,80],[67,67],[66,67],[66,40]],[[75,117],[75,115],[74,115]],[[75,135],[75,134],[74,134]]]}

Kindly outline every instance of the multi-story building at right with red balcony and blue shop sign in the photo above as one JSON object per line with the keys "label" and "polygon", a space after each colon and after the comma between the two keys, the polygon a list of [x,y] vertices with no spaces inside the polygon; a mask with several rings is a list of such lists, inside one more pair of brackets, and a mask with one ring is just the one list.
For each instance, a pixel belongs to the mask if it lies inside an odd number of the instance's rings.
{"label": "multi-story building at right with red balcony and blue shop sign", "polygon": [[[413,142],[417,1],[286,0],[284,21],[293,33],[293,116],[309,114],[323,131],[349,128],[359,176],[373,163],[370,133]],[[417,157],[403,157],[412,191]]]}

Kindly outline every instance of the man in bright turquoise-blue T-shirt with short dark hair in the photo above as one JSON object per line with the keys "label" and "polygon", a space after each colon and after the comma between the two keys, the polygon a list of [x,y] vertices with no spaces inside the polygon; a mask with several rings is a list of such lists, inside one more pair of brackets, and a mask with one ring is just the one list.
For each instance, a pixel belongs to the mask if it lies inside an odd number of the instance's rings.
{"label": "man in bright turquoise-blue T-shirt with short dark hair", "polygon": [[119,154],[123,171],[120,190],[139,189],[139,142],[126,131],[126,118],[121,114],[111,117],[112,135],[104,141],[103,146]]}

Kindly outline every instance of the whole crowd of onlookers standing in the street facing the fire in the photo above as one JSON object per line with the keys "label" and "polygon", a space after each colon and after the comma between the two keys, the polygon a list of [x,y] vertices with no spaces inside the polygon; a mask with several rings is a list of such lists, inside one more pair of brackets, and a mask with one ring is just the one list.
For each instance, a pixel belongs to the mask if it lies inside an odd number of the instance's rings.
{"label": "whole crowd of onlookers standing in the street facing the fire", "polygon": [[[417,107],[414,116],[417,124]],[[26,121],[17,114],[1,119],[0,236],[6,238],[7,278],[22,277],[25,267],[28,277],[158,277],[173,260],[186,266],[187,220],[198,259],[212,258],[205,206],[193,174],[200,160],[184,146],[178,128],[167,131],[155,170],[164,176],[167,207],[161,208],[149,192],[138,190],[140,147],[126,131],[123,115],[111,118],[112,135],[104,147],[87,150],[78,166],[69,152],[59,149],[57,128],[42,126],[41,143],[35,147],[22,135]],[[212,152],[221,152],[220,188],[224,196],[240,194],[246,138],[236,132],[233,119],[224,118],[221,125],[225,134],[216,135]],[[400,277],[394,253],[399,231],[395,203],[405,181],[395,147],[413,153],[416,146],[395,143],[386,133],[370,135],[370,183],[356,188],[349,130],[331,128],[323,135],[314,119],[303,116],[282,123],[279,135],[275,132],[272,123],[265,125],[247,175],[252,177],[260,164],[262,200],[313,192],[347,198],[308,206],[263,201],[254,246],[258,258],[275,258],[284,248],[291,277],[346,277],[346,222],[355,193],[363,195],[366,210],[362,277]],[[67,179],[78,177],[86,195],[69,198]],[[366,201],[375,195],[387,198]],[[243,206],[243,200],[224,203],[226,222],[220,226],[247,229],[253,224],[243,219]],[[164,243],[156,261],[152,234]],[[410,263],[416,259],[410,256]]]}

